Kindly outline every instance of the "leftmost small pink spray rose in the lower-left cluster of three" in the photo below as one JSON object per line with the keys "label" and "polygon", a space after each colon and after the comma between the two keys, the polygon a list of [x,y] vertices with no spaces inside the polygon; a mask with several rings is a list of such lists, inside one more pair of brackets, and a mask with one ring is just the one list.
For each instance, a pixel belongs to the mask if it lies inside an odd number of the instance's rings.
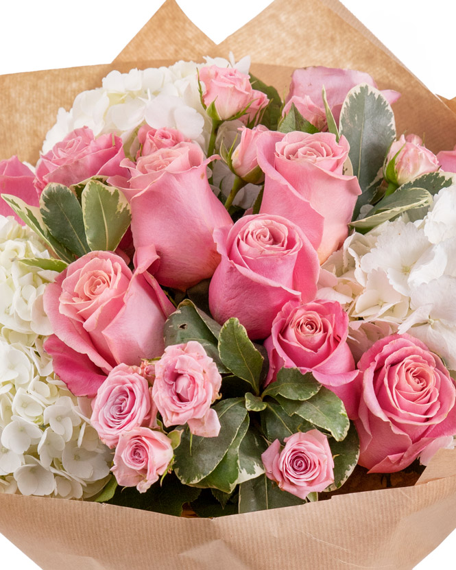
{"label": "leftmost small pink spray rose in the lower-left cluster of three", "polygon": [[92,407],[91,424],[101,441],[112,449],[123,431],[149,427],[152,419],[149,384],[135,368],[119,364],[99,387]]}

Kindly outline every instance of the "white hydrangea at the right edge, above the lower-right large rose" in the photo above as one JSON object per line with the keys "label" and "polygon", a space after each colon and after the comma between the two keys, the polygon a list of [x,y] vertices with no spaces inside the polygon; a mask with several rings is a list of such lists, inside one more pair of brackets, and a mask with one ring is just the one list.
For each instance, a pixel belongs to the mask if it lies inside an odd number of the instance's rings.
{"label": "white hydrangea at the right edge, above the lower-right large rose", "polygon": [[387,326],[388,334],[419,338],[456,370],[455,227],[451,186],[435,196],[424,219],[403,216],[366,235],[353,233],[328,258],[317,296],[344,306],[353,343],[369,346]]}

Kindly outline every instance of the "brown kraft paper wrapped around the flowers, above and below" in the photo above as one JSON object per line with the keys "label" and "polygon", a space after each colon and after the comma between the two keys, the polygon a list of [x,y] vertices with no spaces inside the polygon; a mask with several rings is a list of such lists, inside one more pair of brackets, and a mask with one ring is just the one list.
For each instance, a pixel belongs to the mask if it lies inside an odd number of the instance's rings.
{"label": "brown kraft paper wrapped around the flowers, above and below", "polygon": [[[252,72],[284,92],[295,67],[368,71],[403,93],[398,132],[456,142],[455,101],[443,102],[335,0],[276,0],[215,45],[167,0],[113,64],[0,77],[0,158],[36,162],[60,106],[111,69],[204,55],[252,56]],[[0,495],[0,531],[45,570],[411,570],[456,527],[456,450],[442,450],[415,486],[334,496],[221,519],[179,519],[98,503]]]}

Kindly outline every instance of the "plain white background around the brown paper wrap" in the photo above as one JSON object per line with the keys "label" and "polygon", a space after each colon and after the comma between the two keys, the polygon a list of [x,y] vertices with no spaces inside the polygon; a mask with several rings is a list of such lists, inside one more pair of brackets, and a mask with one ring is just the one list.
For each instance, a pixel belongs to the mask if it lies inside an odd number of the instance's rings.
{"label": "plain white background around the brown paper wrap", "polygon": [[[456,97],[455,0],[342,2],[431,91],[448,99]],[[130,5],[125,0],[2,2],[0,74],[110,62],[162,3],[163,0],[134,0]],[[271,0],[178,0],[189,18],[216,43],[269,3]],[[236,55],[239,58],[244,54]],[[454,570],[455,551],[456,531],[415,570]],[[38,569],[1,534],[0,552],[1,570]]]}

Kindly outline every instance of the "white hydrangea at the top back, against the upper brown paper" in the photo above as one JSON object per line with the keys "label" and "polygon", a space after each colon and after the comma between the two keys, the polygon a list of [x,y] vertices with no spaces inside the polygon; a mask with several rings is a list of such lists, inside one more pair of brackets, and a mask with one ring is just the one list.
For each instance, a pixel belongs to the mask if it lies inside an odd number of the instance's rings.
{"label": "white hydrangea at the top back, against the upper brown paper", "polygon": [[77,95],[71,110],[60,108],[56,124],[49,130],[43,153],[76,128],[88,126],[95,134],[115,132],[125,147],[136,128],[144,123],[154,128],[176,128],[206,148],[211,124],[198,91],[197,69],[206,65],[236,67],[248,73],[250,58],[235,62],[204,58],[204,63],[179,61],[171,67],[111,71],[102,86]]}

